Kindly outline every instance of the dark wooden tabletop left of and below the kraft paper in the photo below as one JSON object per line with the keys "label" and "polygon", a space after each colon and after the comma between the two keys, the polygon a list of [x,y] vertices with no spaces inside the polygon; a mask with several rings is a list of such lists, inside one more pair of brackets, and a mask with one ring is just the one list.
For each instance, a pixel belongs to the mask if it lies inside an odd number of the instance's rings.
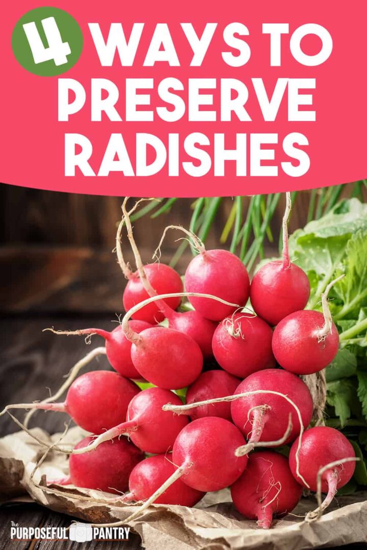
{"label": "dark wooden tabletop left of and below the kraft paper", "polygon": [[[83,338],[57,337],[51,333],[42,333],[42,329],[54,325],[60,328],[75,329],[94,324],[101,328],[111,328],[109,317],[83,316],[70,317],[6,317],[0,321],[2,346],[0,350],[0,410],[9,403],[32,402],[48,396],[46,388],[52,392],[57,390],[70,367],[83,357],[92,346],[102,345],[100,338],[95,338],[87,346]],[[93,361],[87,370],[108,368],[104,356]],[[19,416],[21,417],[21,416]],[[50,433],[63,431],[63,422],[67,415],[37,411],[32,419],[32,426],[41,426]],[[0,418],[0,436],[18,431],[9,416]],[[14,521],[24,527],[67,527],[70,525],[69,516],[53,512],[38,504],[17,504],[0,508],[0,550],[48,550],[61,548],[62,550],[82,548],[76,542],[51,541],[10,541],[10,522]],[[89,542],[92,550],[109,550],[116,542]],[[134,533],[130,534],[128,542],[121,546],[126,550],[141,548],[141,539]]]}

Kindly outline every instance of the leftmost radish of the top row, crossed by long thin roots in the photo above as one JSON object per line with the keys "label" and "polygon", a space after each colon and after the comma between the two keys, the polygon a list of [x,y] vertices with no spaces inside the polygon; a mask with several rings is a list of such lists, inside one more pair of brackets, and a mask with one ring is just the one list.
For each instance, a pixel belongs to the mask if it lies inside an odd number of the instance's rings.
{"label": "leftmost radish of the top row, crossed by long thin roots", "polygon": [[[164,263],[148,263],[144,266],[146,276],[150,284],[156,290],[157,294],[172,294],[182,292],[182,280],[172,267],[166,266]],[[149,298],[143,283],[141,283],[139,273],[135,272],[129,279],[124,293],[123,305],[126,311],[134,305],[140,304],[143,300]],[[175,310],[180,304],[180,298],[168,298],[165,300],[167,304]],[[133,319],[146,321],[151,324],[160,323],[165,316],[154,303],[144,306],[142,309],[133,314]]]}

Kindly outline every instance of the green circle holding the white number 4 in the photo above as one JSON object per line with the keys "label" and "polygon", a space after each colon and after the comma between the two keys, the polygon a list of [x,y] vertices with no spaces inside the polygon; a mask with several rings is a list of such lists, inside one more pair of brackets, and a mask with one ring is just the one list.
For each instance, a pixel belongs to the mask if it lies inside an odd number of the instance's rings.
{"label": "green circle holding the white number 4", "polygon": [[[48,18],[51,18],[51,20]],[[45,19],[48,20],[44,24],[46,25],[46,29],[47,27],[50,28],[49,35],[52,47],[50,47],[47,41],[45,29],[43,28],[42,21]],[[34,58],[35,53],[32,52],[30,42],[23,27],[23,25],[29,23],[31,25],[26,27],[28,34],[31,36],[36,35],[35,39],[31,38],[31,42],[34,51],[38,52],[38,54],[36,53],[37,63]],[[55,32],[55,23],[61,40],[59,39],[57,29]],[[56,42],[56,47],[53,44],[54,41]],[[64,44],[68,43],[69,48],[67,45],[61,46],[61,42]],[[30,73],[39,76],[55,76],[67,72],[78,61],[83,50],[83,33],[77,21],[63,9],[52,7],[35,8],[25,13],[15,25],[12,34],[12,48],[17,61]],[[47,49],[45,50],[45,48]],[[70,53],[68,53],[68,49],[70,49]],[[52,58],[47,61],[43,59],[44,57],[51,56]]]}

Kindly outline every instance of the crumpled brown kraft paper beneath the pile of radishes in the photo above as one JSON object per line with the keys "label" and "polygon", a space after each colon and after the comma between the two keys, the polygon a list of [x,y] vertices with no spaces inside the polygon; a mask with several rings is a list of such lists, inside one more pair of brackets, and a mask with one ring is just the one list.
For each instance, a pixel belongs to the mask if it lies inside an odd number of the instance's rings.
{"label": "crumpled brown kraft paper beneath the pile of radishes", "polygon": [[[32,433],[50,445],[60,434],[50,436],[40,428]],[[71,428],[62,440],[65,448],[84,437],[80,428]],[[113,505],[111,494],[90,489],[54,485],[58,494],[44,492],[31,480],[37,461],[45,447],[18,432],[0,439],[0,500],[2,503],[24,502],[29,499],[52,510],[86,522],[124,520],[134,507]],[[50,451],[37,470],[34,479],[45,483],[48,479],[65,475],[67,455]],[[77,496],[78,499],[73,498]],[[87,498],[94,498],[90,502]],[[271,530],[262,530],[255,521],[242,518],[235,511],[228,489],[208,493],[195,508],[153,505],[130,526],[141,536],[146,550],[226,550],[261,548],[266,550],[301,550],[367,542],[367,492],[341,497],[333,503],[332,511],[319,521],[303,520],[308,510],[316,507],[314,497],[303,498],[298,507],[285,518],[276,520]]]}

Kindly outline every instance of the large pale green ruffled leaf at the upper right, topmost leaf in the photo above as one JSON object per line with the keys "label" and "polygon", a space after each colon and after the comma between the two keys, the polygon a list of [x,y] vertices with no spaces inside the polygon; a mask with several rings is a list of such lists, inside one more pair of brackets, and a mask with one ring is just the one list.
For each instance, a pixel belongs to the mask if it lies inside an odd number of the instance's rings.
{"label": "large pale green ruffled leaf at the upper right, topmost leaf", "polygon": [[341,201],[325,216],[311,221],[291,235],[291,258],[310,278],[308,309],[320,309],[321,293],[333,278],[342,273],[348,273],[344,283],[341,281],[337,292],[331,296],[334,298],[331,309],[336,318],[342,319],[347,313],[352,313],[353,309],[358,311],[361,305],[365,305],[365,235],[367,205],[355,198]]}

